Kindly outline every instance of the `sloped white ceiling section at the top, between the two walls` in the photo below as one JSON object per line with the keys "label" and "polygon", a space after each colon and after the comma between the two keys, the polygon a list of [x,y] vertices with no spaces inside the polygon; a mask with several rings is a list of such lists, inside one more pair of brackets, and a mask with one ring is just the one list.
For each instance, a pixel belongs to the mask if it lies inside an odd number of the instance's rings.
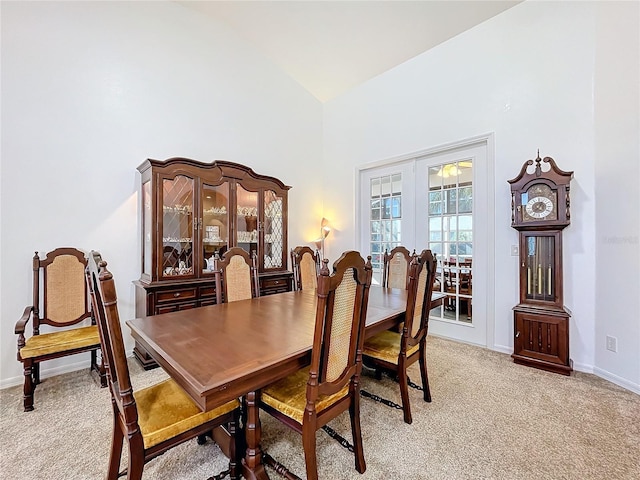
{"label": "sloped white ceiling section at the top, between the two walls", "polygon": [[227,24],[320,101],[520,1],[179,1]]}

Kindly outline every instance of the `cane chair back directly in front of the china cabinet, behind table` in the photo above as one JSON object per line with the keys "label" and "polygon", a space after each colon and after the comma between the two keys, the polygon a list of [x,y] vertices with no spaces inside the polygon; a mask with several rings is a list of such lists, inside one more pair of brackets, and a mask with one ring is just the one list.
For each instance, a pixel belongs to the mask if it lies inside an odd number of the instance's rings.
{"label": "cane chair back directly in front of the china cabinet, behind table", "polygon": [[232,247],[214,259],[216,302],[235,302],[260,296],[255,253]]}

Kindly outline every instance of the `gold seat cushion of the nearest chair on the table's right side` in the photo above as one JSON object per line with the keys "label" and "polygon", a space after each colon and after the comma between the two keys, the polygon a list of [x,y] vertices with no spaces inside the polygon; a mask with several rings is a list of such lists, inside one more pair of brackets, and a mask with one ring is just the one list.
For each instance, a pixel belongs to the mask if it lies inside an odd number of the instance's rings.
{"label": "gold seat cushion of the nearest chair on the table's right side", "polygon": [[[308,380],[309,367],[298,370],[262,390],[262,403],[302,424],[304,408],[307,405]],[[347,395],[349,395],[349,384],[333,395],[321,395],[316,402],[316,412],[321,412]]]}

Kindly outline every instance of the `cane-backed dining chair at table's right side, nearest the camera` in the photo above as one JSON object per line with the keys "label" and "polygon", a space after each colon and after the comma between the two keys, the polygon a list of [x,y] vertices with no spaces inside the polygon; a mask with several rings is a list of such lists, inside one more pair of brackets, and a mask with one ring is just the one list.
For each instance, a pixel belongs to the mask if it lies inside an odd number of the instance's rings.
{"label": "cane-backed dining chair at table's right side, nearest the camera", "polygon": [[348,410],[355,467],[366,469],[360,431],[360,373],[364,322],[371,285],[367,263],[349,251],[318,276],[311,365],[262,390],[261,408],[302,434],[307,480],[317,480],[316,431]]}

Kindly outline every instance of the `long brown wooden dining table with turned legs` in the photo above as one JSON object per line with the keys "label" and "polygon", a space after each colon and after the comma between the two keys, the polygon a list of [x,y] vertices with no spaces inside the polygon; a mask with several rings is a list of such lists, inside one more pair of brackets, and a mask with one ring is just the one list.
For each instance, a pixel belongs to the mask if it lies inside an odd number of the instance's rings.
{"label": "long brown wooden dining table with turned legs", "polygon": [[[311,361],[311,290],[269,295],[127,321],[131,335],[202,411],[245,397],[242,473],[268,479],[260,449],[259,391]],[[407,292],[371,286],[365,335],[401,322]],[[434,293],[433,303],[441,301]]]}

